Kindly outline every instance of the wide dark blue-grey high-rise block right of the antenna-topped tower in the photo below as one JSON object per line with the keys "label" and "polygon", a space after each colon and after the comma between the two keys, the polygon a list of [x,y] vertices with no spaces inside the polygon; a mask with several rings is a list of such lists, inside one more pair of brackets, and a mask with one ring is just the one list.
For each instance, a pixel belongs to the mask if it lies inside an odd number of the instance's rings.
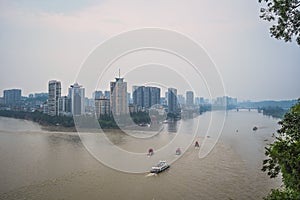
{"label": "wide dark blue-grey high-rise block right of the antenna-topped tower", "polygon": [[160,104],[160,88],[133,86],[133,104],[142,107],[150,108],[153,105]]}

